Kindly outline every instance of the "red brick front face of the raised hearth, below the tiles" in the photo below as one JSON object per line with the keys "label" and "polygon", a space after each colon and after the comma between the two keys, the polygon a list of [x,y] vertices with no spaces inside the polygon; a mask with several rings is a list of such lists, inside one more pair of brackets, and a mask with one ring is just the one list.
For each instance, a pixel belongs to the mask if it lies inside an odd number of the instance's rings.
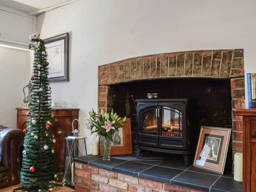
{"label": "red brick front face of the raised hearth, below the tiles", "polygon": [[202,192],[76,162],[77,192]]}

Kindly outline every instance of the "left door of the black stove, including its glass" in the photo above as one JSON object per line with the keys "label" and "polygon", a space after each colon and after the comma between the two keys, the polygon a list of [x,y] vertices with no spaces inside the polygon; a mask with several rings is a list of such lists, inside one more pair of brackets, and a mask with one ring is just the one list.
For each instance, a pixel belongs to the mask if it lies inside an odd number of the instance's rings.
{"label": "left door of the black stove, including its glass", "polygon": [[140,104],[137,110],[138,137],[140,145],[158,147],[158,105],[157,103]]}

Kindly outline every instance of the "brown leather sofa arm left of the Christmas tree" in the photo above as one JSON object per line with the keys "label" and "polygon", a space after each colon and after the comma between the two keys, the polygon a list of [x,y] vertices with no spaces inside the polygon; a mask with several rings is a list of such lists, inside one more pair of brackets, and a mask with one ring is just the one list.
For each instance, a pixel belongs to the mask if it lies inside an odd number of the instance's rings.
{"label": "brown leather sofa arm left of the Christmas tree", "polygon": [[20,182],[24,133],[0,125],[0,188]]}

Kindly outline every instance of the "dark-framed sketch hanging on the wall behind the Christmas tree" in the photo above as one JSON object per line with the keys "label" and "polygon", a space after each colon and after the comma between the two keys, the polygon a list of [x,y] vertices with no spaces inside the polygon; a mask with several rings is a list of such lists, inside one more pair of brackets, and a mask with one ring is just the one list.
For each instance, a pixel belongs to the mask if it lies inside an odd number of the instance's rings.
{"label": "dark-framed sketch hanging on the wall behind the Christmas tree", "polygon": [[44,40],[48,61],[50,82],[68,81],[68,33]]}

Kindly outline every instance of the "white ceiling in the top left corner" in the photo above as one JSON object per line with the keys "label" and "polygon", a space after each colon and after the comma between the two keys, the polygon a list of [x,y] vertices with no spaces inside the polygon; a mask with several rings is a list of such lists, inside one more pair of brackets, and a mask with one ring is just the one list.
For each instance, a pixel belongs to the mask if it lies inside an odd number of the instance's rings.
{"label": "white ceiling in the top left corner", "polygon": [[69,0],[0,0],[0,5],[30,13],[68,1]]}

